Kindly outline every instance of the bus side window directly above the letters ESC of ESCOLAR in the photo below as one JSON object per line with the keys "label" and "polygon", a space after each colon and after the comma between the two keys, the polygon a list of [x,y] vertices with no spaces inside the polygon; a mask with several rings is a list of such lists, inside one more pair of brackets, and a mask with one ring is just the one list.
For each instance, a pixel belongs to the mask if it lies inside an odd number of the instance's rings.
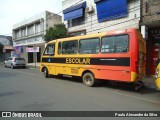
{"label": "bus side window directly above the letters ESC of ESCOLAR", "polygon": [[78,41],[66,41],[62,43],[62,54],[77,54]]}

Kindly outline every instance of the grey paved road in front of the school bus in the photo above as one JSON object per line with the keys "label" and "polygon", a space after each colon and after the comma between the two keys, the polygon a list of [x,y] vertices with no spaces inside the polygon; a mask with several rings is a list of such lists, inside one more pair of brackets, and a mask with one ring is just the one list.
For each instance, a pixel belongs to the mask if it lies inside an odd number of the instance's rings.
{"label": "grey paved road in front of the school bus", "polygon": [[160,111],[160,92],[106,83],[91,88],[76,79],[46,79],[37,69],[0,65],[0,111]]}

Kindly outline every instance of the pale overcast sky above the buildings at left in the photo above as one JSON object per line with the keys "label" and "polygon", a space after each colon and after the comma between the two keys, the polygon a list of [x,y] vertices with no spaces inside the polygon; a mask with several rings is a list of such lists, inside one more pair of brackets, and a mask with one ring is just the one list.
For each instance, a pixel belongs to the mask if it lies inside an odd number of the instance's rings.
{"label": "pale overcast sky above the buildings at left", "polygon": [[[0,0],[0,35],[12,36],[13,25],[45,10],[59,13],[63,0]],[[62,13],[61,13],[62,14]]]}

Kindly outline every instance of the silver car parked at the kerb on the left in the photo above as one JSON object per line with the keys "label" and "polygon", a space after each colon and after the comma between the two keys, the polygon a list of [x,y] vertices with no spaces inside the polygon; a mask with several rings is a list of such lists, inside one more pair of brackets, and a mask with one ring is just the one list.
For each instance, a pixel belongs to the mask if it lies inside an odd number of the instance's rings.
{"label": "silver car parked at the kerb on the left", "polygon": [[4,61],[5,67],[11,67],[12,69],[15,67],[26,67],[26,61],[24,58],[20,57],[10,57]]}

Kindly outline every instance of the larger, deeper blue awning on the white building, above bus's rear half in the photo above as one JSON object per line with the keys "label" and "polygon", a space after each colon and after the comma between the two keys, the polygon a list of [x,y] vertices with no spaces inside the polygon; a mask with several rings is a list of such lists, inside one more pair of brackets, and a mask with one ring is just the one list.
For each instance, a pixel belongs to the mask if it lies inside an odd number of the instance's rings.
{"label": "larger, deeper blue awning on the white building, above bus's rear half", "polygon": [[99,22],[127,16],[127,0],[94,0],[94,2]]}

